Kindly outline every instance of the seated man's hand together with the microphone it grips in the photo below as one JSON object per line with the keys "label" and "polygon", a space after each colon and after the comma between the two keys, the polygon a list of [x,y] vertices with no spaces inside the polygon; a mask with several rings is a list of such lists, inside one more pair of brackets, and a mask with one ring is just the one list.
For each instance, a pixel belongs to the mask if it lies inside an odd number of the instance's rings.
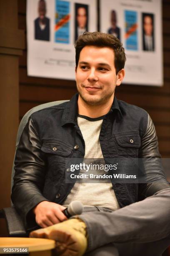
{"label": "seated man's hand together with the microphone it grips", "polygon": [[72,215],[81,214],[82,210],[83,205],[79,201],[72,201],[67,208],[54,202],[42,201],[33,208],[35,221],[41,228],[60,223]]}

